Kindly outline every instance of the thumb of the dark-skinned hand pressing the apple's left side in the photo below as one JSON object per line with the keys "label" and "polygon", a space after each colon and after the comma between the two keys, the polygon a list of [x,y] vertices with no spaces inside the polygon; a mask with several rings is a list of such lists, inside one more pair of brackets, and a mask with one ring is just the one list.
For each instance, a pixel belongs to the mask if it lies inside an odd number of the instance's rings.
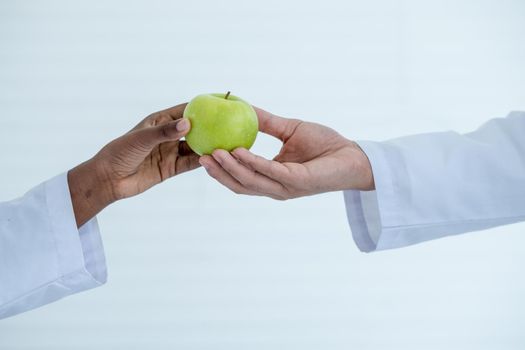
{"label": "thumb of the dark-skinned hand pressing the apple's left side", "polygon": [[190,131],[190,121],[181,118],[166,124],[135,130],[127,136],[128,142],[149,153],[160,143],[176,141]]}

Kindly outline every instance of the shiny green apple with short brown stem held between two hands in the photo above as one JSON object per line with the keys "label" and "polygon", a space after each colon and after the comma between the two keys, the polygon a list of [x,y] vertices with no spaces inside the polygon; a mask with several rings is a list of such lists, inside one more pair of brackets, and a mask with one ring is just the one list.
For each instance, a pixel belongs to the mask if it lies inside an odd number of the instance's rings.
{"label": "shiny green apple with short brown stem held between two hands", "polygon": [[259,130],[253,107],[239,97],[204,94],[195,97],[184,110],[191,122],[186,142],[197,154],[211,154],[216,149],[228,152],[238,147],[252,147]]}

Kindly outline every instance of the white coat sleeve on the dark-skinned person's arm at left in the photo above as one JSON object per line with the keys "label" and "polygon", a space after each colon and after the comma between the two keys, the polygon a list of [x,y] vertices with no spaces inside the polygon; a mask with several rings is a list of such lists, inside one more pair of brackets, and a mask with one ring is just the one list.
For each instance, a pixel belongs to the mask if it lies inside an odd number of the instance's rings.
{"label": "white coat sleeve on the dark-skinned person's arm at left", "polygon": [[105,281],[96,218],[77,229],[67,174],[0,203],[0,319]]}

